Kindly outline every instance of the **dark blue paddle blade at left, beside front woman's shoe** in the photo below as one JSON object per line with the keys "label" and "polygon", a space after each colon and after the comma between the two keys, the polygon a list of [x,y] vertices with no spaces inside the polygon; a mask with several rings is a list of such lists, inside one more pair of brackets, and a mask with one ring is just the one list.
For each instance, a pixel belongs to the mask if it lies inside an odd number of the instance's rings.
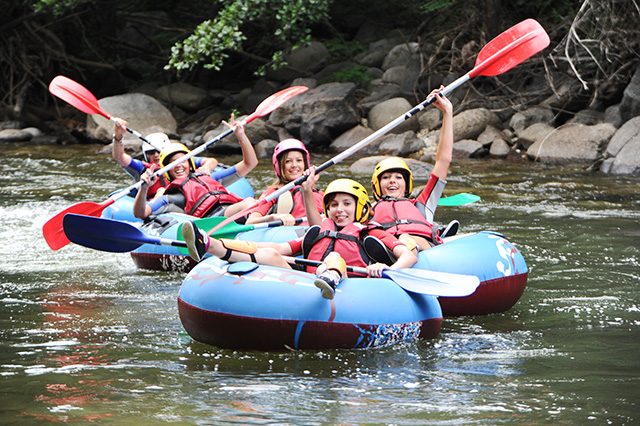
{"label": "dark blue paddle blade at left, beside front woman's shoe", "polygon": [[151,237],[135,226],[102,217],[66,214],[62,220],[69,241],[95,250],[124,253],[142,244],[159,244],[159,237]]}

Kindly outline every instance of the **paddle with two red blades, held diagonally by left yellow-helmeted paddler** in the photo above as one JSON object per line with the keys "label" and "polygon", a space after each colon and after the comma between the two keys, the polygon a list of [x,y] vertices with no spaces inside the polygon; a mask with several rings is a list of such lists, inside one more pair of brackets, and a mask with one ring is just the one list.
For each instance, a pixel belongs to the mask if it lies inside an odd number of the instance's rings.
{"label": "paddle with two red blades, held diagonally by left yellow-helmeted paddler", "polygon": [[[256,118],[269,114],[270,112],[277,109],[279,106],[284,104],[286,101],[288,101],[292,97],[306,90],[308,90],[308,87],[293,86],[269,96],[267,99],[262,101],[260,105],[258,105],[256,110],[251,115],[249,115],[244,120],[238,122],[237,125],[245,126],[248,123],[255,120]],[[215,144],[216,142],[220,141],[221,139],[225,138],[231,133],[233,133],[233,129],[228,129],[227,131],[221,133],[214,139],[208,142],[205,142],[198,148],[189,152],[187,155],[184,155],[178,158],[177,160],[171,162],[170,164],[166,165],[165,167],[156,170],[153,174],[155,176],[161,176],[163,173],[171,170],[176,165],[182,163],[183,161],[188,160],[193,156],[198,155],[199,153],[207,149],[209,146]],[[116,200],[119,200],[120,198],[129,194],[132,190],[140,188],[140,186],[142,186],[142,183],[143,181],[140,180],[134,185],[131,185],[130,187],[111,195],[102,203],[82,202],[82,203],[75,204],[71,207],[67,207],[65,210],[61,211],[60,213],[58,213],[57,215],[49,219],[42,227],[42,232],[44,234],[45,240],[47,241],[47,244],[49,244],[49,247],[51,247],[51,249],[53,250],[59,250],[62,247],[69,244],[69,239],[65,236],[64,230],[62,228],[62,220],[67,213],[75,213],[75,214],[87,215],[87,216],[100,216],[102,211],[107,206],[113,204]]]}

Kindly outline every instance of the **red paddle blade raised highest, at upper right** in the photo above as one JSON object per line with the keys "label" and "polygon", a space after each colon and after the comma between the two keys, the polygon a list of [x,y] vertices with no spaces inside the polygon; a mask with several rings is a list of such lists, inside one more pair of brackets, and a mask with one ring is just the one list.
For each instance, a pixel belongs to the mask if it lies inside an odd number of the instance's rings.
{"label": "red paddle blade raised highest, at upper right", "polygon": [[491,40],[478,54],[469,77],[499,75],[549,46],[549,36],[534,19],[526,19]]}

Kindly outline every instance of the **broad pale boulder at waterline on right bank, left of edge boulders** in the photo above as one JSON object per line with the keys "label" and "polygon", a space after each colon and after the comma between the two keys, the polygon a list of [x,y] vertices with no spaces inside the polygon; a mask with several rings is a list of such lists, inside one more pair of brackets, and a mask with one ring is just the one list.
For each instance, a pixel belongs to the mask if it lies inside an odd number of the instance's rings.
{"label": "broad pale boulder at waterline on right bank, left of edge boulders", "polygon": [[615,131],[610,123],[566,124],[531,145],[527,156],[544,163],[590,164],[596,161]]}

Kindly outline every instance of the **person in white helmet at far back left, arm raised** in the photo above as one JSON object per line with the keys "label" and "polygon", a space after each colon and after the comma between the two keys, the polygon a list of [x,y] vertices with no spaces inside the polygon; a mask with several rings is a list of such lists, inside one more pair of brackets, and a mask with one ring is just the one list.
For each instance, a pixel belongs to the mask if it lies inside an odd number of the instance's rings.
{"label": "person in white helmet at far back left, arm raised", "polygon": [[[169,137],[160,132],[150,133],[145,137],[148,142],[142,143],[142,154],[144,161],[131,157],[124,151],[123,138],[127,132],[127,122],[121,118],[116,118],[116,124],[113,134],[113,144],[111,147],[111,156],[120,167],[124,169],[129,176],[135,181],[140,180],[142,173],[151,168],[152,170],[160,169],[160,151],[169,145],[171,141]],[[218,160],[210,157],[194,157],[196,167],[202,168],[204,171],[211,173],[217,166]],[[167,185],[164,178],[158,179],[150,188],[147,194],[149,198],[162,195],[163,188]]]}

